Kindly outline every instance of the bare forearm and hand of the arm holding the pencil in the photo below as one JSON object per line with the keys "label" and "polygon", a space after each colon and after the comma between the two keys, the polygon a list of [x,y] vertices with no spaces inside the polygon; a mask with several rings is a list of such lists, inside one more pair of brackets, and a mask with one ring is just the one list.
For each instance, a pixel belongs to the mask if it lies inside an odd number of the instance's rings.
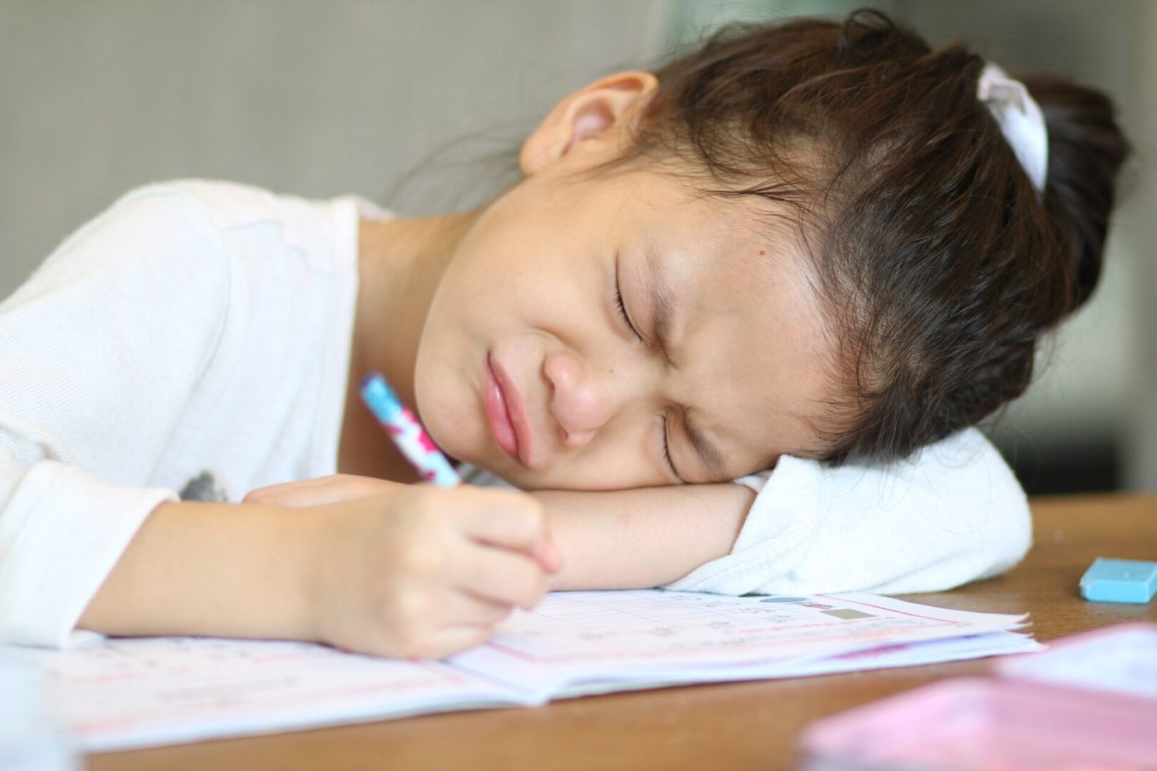
{"label": "bare forearm and hand of the arm holding the pencil", "polygon": [[523,492],[391,485],[327,505],[163,503],[80,625],[441,658],[532,607],[557,555]]}

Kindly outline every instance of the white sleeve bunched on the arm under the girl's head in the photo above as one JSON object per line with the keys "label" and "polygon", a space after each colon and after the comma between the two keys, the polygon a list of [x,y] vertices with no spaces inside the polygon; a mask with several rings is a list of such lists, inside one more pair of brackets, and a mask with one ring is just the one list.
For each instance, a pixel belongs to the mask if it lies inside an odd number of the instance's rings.
{"label": "white sleeve bunched on the arm under the girl's head", "polygon": [[1024,490],[975,429],[886,466],[783,457],[736,482],[757,495],[731,554],[668,588],[939,592],[1004,572],[1032,544]]}

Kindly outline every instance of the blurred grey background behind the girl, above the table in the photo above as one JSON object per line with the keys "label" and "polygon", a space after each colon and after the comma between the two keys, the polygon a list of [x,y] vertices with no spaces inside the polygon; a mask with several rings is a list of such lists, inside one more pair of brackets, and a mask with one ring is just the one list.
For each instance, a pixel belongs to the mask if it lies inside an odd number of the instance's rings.
{"label": "blurred grey background behind the girl, above the table", "polygon": [[589,81],[725,21],[864,6],[1114,97],[1136,155],[1104,283],[988,430],[1030,491],[1157,490],[1149,0],[0,0],[0,296],[149,181],[355,192],[410,215],[477,205]]}

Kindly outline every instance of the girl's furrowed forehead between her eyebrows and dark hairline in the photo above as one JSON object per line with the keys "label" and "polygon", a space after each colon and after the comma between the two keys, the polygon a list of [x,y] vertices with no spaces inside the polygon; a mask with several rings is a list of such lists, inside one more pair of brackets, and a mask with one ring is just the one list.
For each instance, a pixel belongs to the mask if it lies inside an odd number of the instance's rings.
{"label": "girl's furrowed forehead between her eyebrows and dark hairline", "polygon": [[659,275],[669,286],[673,398],[708,428],[729,469],[821,453],[835,350],[795,212],[672,191],[639,200],[638,252],[624,261],[640,286]]}

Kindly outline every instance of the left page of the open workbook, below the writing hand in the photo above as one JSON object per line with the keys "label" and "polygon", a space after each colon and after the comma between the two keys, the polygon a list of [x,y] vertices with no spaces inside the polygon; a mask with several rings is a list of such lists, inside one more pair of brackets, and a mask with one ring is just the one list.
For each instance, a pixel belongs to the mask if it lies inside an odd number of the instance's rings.
{"label": "left page of the open workbook, below the writing hand", "polygon": [[54,712],[86,751],[510,703],[443,663],[310,643],[146,637],[8,651],[46,672]]}

